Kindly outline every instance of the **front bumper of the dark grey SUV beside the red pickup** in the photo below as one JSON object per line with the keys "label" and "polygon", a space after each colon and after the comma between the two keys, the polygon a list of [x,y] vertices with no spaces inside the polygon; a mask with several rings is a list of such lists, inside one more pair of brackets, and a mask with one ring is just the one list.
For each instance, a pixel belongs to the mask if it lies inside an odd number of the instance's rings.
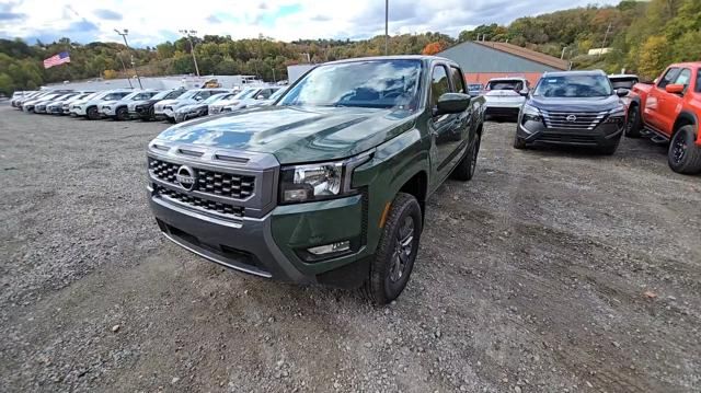
{"label": "front bumper of the dark grey SUV beside the red pickup", "polygon": [[540,122],[519,120],[516,135],[529,145],[610,147],[623,134],[625,122],[601,123],[594,129],[549,128]]}

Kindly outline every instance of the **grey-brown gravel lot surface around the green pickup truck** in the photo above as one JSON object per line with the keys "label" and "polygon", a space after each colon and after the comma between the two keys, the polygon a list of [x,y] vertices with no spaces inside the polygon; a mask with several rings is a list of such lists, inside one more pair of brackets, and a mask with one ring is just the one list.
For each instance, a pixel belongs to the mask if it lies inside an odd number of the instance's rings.
{"label": "grey-brown gravel lot surface around the green pickup truck", "polygon": [[665,148],[512,148],[432,197],[395,304],[162,238],[158,123],[0,107],[0,391],[699,392],[701,177]]}

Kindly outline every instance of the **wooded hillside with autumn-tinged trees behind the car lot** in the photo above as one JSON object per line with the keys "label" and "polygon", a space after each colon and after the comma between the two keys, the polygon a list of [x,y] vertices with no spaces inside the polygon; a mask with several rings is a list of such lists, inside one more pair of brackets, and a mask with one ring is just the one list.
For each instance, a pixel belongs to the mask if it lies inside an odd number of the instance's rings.
{"label": "wooded hillside with autumn-tinged trees behind the car lot", "polygon": [[[451,37],[438,32],[391,36],[390,55],[436,54],[471,39],[508,42],[573,61],[574,68],[625,69],[654,78],[671,61],[701,60],[701,1],[623,0],[616,7],[586,7],[526,16],[508,25],[484,24]],[[285,43],[265,36],[193,37],[200,74],[254,74],[266,81],[287,78],[287,66],[384,54],[384,37],[361,41],[303,39]],[[601,46],[602,56],[588,51]],[[44,69],[43,59],[70,53],[71,62]],[[116,43],[82,45],[61,38],[32,45],[0,39],[0,92],[37,89],[66,80],[124,78],[131,62],[140,76],[194,73],[192,46],[186,38],[154,47],[127,48]]]}

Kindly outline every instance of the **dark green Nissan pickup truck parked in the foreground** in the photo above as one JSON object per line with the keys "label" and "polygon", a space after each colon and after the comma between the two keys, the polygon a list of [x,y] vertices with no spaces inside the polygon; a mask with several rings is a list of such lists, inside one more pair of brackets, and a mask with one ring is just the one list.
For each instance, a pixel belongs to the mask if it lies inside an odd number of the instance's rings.
{"label": "dark green Nissan pickup truck parked in the foreground", "polygon": [[474,173],[484,101],[427,56],[320,65],[267,107],[173,126],[148,146],[163,234],[223,266],[395,299],[426,199]]}

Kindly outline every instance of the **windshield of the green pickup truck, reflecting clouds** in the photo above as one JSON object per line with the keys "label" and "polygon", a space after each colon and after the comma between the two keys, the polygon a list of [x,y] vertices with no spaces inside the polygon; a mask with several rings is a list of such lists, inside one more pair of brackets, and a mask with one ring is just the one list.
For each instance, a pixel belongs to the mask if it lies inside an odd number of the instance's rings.
{"label": "windshield of the green pickup truck, reflecting clouds", "polygon": [[319,66],[277,105],[415,109],[421,61],[366,60]]}

